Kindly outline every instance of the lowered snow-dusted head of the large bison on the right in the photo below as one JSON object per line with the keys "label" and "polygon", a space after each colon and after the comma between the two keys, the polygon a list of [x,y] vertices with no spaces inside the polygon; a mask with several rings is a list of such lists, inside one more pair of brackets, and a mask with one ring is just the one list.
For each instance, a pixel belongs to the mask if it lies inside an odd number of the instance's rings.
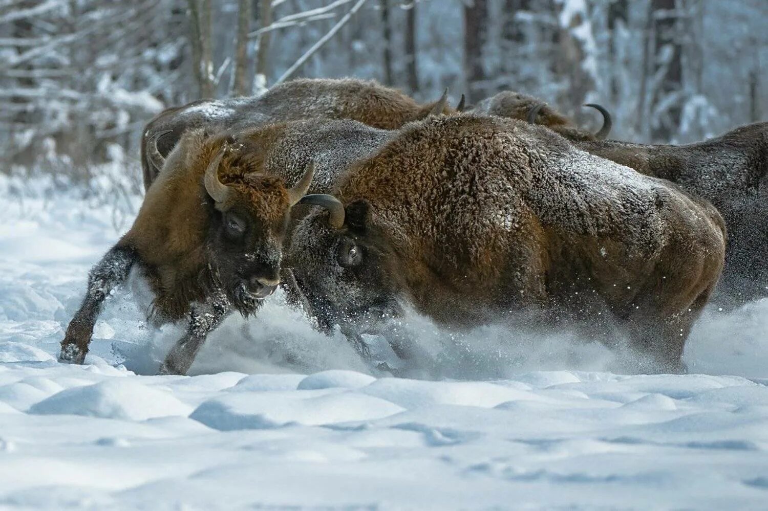
{"label": "lowered snow-dusted head of the large bison on the right", "polygon": [[[323,206],[296,230],[286,265],[323,330],[352,323],[356,327],[400,315],[398,257],[371,222],[369,203],[346,208],[333,196],[313,194],[300,203]],[[365,328],[363,328],[365,329]]]}

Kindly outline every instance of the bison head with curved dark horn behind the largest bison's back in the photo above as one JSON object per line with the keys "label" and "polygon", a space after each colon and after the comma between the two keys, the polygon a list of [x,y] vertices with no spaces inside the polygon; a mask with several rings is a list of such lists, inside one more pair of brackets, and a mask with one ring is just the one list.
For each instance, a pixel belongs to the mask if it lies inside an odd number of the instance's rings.
{"label": "bison head with curved dark horn behind the largest bison's back", "polygon": [[480,101],[473,107],[468,107],[466,110],[472,111],[474,114],[496,115],[525,120],[530,124],[541,124],[541,126],[548,127],[568,140],[603,140],[611,133],[613,126],[611,114],[599,104],[590,103],[584,106],[598,110],[603,116],[603,126],[595,134],[582,130],[571,119],[542,103],[537,97],[520,92],[500,92]]}

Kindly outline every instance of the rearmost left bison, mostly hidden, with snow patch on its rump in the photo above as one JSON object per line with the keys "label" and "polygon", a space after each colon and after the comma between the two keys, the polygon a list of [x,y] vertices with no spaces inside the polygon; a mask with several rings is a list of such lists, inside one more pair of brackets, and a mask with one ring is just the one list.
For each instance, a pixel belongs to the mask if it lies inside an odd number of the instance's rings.
{"label": "rearmost left bison, mostly hidden, with snow patch on its rump", "polygon": [[257,97],[233,97],[226,100],[199,100],[183,107],[173,107],[157,114],[144,127],[141,165],[144,190],[157,177],[157,159],[147,152],[148,140],[155,134],[168,134],[157,143],[162,156],[170,153],[181,134],[192,128],[227,129],[240,132],[263,124],[323,117],[352,119],[383,130],[394,130],[429,114],[449,114],[446,90],[438,101],[416,103],[396,89],[376,81],[353,78],[340,80],[302,78],[280,84]]}

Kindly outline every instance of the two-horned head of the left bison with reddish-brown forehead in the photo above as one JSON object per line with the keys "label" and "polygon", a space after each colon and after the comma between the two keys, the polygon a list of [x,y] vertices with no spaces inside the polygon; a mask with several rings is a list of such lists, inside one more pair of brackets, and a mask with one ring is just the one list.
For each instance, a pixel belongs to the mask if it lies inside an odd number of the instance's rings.
{"label": "two-horned head of the left bison with reddish-brown forehead", "polygon": [[[200,176],[200,196],[210,207],[204,232],[206,259],[214,279],[243,315],[271,295],[280,283],[280,259],[290,210],[309,190],[314,163],[293,187],[262,171],[250,147],[233,137],[205,140],[187,164]],[[150,155],[160,158],[157,151]],[[164,165],[164,161],[157,161]]]}

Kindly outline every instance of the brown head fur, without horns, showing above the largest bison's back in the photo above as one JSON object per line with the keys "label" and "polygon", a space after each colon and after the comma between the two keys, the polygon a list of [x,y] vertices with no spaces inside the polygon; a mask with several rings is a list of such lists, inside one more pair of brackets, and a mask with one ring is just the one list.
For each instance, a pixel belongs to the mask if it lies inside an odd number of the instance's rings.
{"label": "brown head fur, without horns, showing above the largest bison's back", "polygon": [[[538,104],[544,104],[538,97],[521,92],[503,91],[488,97],[472,107],[472,113],[496,115],[510,119],[528,120],[528,113]],[[573,120],[545,104],[536,117],[536,124],[548,127],[568,140],[597,140],[594,134],[582,130]]]}

